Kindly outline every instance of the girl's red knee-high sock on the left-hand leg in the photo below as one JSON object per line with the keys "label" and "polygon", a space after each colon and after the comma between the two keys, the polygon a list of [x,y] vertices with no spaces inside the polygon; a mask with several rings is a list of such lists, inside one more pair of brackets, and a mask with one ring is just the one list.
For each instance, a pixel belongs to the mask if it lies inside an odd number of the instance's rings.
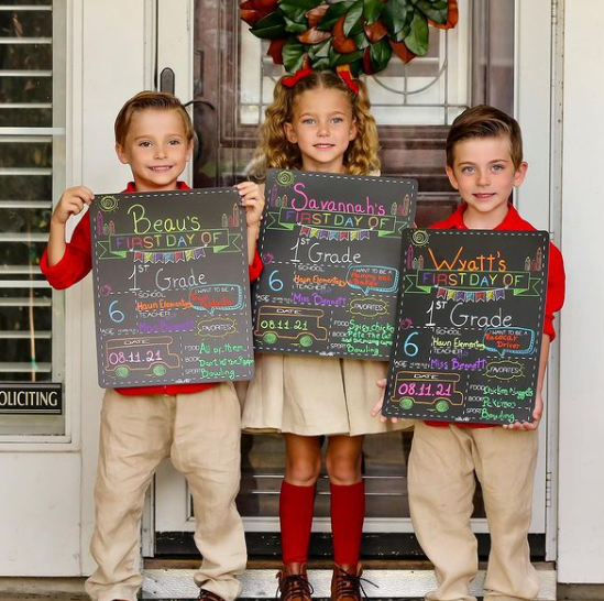
{"label": "girl's red knee-high sock on the left-hand leg", "polygon": [[281,485],[281,547],[284,564],[304,564],[308,559],[315,487],[296,487],[285,480]]}

